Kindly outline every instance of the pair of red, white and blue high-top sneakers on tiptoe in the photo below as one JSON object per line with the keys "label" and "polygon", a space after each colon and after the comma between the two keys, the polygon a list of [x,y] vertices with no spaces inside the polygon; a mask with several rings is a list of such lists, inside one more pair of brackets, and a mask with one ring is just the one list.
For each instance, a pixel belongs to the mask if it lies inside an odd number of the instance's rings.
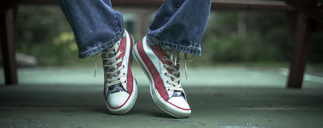
{"label": "pair of red, white and blue high-top sneakers on tiptoe", "polygon": [[101,52],[109,111],[122,115],[135,103],[138,89],[131,71],[132,55],[149,79],[155,104],[174,117],[189,117],[191,109],[180,85],[179,52],[154,45],[146,37],[134,45],[126,30],[119,42]]}

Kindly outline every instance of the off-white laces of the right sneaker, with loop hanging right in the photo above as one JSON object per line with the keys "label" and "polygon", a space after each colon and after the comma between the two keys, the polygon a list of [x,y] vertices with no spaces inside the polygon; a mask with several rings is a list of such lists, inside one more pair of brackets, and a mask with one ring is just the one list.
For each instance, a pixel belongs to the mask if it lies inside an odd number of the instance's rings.
{"label": "off-white laces of the right sneaker, with loop hanging right", "polygon": [[[165,49],[165,52],[169,53],[170,57],[168,58],[168,57],[164,56],[163,59],[171,62],[171,66],[164,64],[164,68],[171,69],[172,74],[165,73],[164,75],[173,78],[172,81],[166,81],[166,83],[174,85],[173,87],[169,88],[169,90],[183,91],[180,83],[178,82],[178,81],[180,81],[179,68],[176,68],[176,66],[179,65],[179,52],[174,52],[173,50],[168,50],[168,49]],[[187,59],[187,53],[185,53],[184,57],[185,57],[185,75],[186,75],[186,80],[187,80],[186,61],[192,61],[194,59],[194,55],[191,59]],[[177,59],[178,59],[178,62],[177,62]],[[175,74],[178,74],[178,77],[175,76]]]}

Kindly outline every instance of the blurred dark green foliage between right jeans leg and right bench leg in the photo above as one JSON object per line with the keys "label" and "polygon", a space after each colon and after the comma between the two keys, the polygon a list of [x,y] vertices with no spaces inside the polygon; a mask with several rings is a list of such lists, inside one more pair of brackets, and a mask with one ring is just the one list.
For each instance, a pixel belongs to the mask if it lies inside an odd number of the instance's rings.
{"label": "blurred dark green foliage between right jeans leg and right bench leg", "polygon": [[289,61],[293,41],[287,34],[284,17],[247,12],[246,36],[239,36],[237,12],[212,13],[202,51],[210,53],[214,62]]}

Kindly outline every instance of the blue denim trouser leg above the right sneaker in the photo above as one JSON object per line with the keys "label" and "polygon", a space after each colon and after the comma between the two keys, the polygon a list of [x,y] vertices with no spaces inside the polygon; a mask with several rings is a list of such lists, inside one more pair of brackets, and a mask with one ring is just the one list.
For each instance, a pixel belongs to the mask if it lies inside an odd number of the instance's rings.
{"label": "blue denim trouser leg above the right sneaker", "polygon": [[201,55],[200,42],[210,8],[210,0],[165,1],[149,26],[147,40],[180,52]]}

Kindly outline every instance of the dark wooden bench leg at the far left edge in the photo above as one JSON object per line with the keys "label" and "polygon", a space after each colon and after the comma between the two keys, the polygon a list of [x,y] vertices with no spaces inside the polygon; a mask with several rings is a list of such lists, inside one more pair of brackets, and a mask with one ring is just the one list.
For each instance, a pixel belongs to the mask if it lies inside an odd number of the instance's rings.
{"label": "dark wooden bench leg at the far left edge", "polygon": [[0,34],[2,55],[5,68],[6,84],[17,83],[17,71],[14,44],[14,15],[13,9],[0,15]]}

